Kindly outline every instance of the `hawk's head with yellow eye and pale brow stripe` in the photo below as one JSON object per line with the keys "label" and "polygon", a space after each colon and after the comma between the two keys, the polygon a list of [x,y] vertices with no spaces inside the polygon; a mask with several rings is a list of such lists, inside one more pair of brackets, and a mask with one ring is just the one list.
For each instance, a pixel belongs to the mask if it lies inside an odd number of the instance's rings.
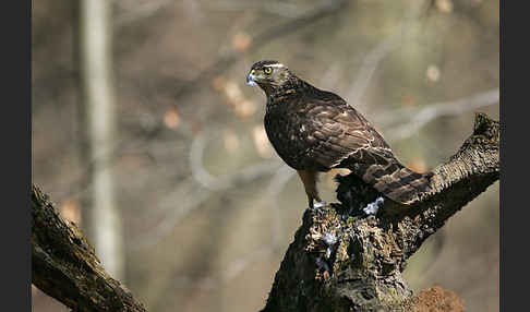
{"label": "hawk's head with yellow eye and pale brow stripe", "polygon": [[246,84],[258,85],[268,96],[289,82],[292,74],[286,65],[277,61],[260,61],[252,65],[246,75]]}

